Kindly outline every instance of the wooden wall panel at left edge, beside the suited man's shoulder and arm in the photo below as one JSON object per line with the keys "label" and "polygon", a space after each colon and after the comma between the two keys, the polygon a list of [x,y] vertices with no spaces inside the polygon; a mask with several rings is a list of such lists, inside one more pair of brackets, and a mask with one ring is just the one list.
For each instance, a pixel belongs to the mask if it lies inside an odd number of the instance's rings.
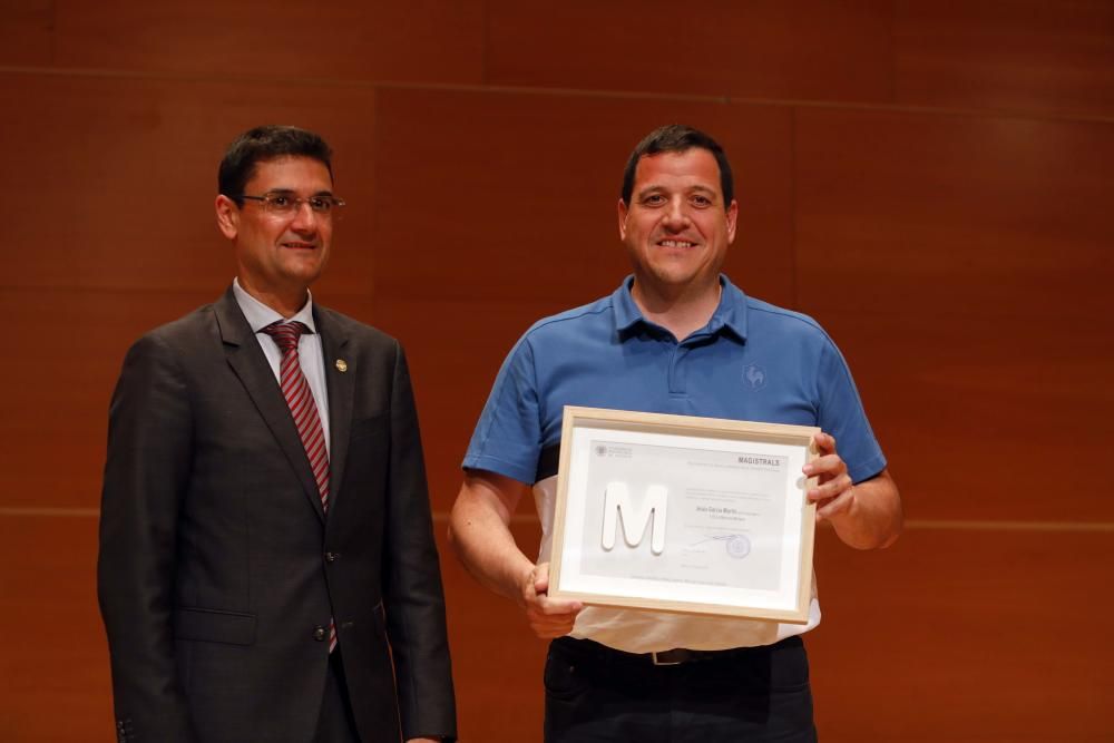
{"label": "wooden wall panel at left edge, beside the suited man's shoulder and arm", "polygon": [[128,346],[145,331],[211,302],[204,293],[0,290],[18,354],[0,364],[0,506],[96,508],[108,400]]}

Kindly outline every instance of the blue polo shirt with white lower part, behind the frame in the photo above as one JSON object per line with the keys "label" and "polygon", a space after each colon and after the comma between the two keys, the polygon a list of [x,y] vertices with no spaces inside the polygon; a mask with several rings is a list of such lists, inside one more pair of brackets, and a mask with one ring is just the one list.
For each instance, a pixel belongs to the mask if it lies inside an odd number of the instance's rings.
{"label": "blue polo shirt with white lower part, behind the frame", "polygon": [[[496,379],[463,467],[534,486],[539,561],[549,559],[565,405],[819,426],[854,481],[886,467],[843,356],[812,319],[753,300],[726,276],[709,323],[678,341],[638,310],[628,276],[613,294],[534,324]],[[807,625],[587,607],[574,637],[632,653],[765,645]]]}

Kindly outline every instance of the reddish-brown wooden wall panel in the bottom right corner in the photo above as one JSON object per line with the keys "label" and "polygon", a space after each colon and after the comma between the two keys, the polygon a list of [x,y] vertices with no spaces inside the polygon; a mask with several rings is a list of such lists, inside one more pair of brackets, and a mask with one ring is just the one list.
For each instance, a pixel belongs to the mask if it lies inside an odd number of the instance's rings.
{"label": "reddish-brown wooden wall panel in the bottom right corner", "polygon": [[910,530],[817,540],[809,648],[825,743],[1114,740],[1106,532]]}

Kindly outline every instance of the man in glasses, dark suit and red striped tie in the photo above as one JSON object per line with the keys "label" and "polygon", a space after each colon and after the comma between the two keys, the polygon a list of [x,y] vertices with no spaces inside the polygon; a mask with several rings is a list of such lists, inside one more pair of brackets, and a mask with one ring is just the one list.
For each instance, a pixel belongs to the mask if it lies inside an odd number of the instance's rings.
{"label": "man in glasses, dark suit and red striped tie", "polygon": [[237,138],[233,286],[124,362],[98,563],[121,741],[455,739],[405,358],[309,292],[330,158],[294,127]]}

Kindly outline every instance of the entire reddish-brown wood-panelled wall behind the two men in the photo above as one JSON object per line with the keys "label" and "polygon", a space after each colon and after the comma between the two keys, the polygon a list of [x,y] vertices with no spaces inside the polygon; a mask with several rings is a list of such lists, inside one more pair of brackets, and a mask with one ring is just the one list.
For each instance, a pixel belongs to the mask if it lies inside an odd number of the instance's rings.
{"label": "entire reddish-brown wood-panelled wall behind the two men", "polygon": [[[0,0],[0,740],[111,740],[108,398],[231,281],[233,136],[333,144],[315,293],[407,346],[441,534],[510,345],[626,273],[668,121],[727,148],[727,272],[834,336],[905,496],[887,551],[819,536],[822,740],[1114,739],[1114,2]],[[544,643],[441,546],[462,740],[539,740]]]}

